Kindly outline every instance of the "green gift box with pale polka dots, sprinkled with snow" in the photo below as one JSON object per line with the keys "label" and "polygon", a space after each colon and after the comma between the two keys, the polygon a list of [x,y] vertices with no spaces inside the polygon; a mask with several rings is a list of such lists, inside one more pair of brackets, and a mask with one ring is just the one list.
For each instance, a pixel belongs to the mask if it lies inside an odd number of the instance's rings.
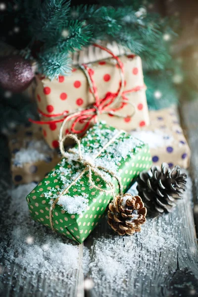
{"label": "green gift box with pale polka dots, sprinkled with snow", "polygon": [[[82,243],[98,225],[121,182],[127,192],[139,173],[151,166],[148,145],[122,130],[99,122],[27,196],[32,218]],[[90,180],[91,175],[91,180]]]}

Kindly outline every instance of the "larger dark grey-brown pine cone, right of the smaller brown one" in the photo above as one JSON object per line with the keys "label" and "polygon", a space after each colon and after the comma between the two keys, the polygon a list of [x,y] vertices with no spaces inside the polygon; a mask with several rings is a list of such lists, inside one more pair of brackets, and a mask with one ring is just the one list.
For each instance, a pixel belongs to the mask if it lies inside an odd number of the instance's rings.
{"label": "larger dark grey-brown pine cone, right of the smaller brown one", "polygon": [[151,174],[142,171],[137,179],[137,190],[148,212],[154,216],[171,212],[176,206],[176,200],[181,199],[186,190],[186,178],[186,174],[180,173],[179,166],[171,170],[166,163],[162,163],[161,170],[152,166]]}

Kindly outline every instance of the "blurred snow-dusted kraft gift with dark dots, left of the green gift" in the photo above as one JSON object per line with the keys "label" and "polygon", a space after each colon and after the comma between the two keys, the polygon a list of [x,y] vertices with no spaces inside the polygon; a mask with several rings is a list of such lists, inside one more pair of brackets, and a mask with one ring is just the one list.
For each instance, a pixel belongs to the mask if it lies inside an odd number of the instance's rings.
{"label": "blurred snow-dusted kraft gift with dark dots, left of the green gift", "polygon": [[14,129],[8,136],[11,153],[11,174],[13,183],[40,182],[57,164],[60,156],[43,139],[41,128],[28,123]]}

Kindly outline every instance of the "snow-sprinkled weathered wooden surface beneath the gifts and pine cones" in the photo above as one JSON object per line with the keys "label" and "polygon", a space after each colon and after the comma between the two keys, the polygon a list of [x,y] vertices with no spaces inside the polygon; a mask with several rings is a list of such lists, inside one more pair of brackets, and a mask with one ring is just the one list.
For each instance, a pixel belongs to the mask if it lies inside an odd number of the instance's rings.
{"label": "snow-sprinkled weathered wooden surface beneath the gifts and pine cones", "polygon": [[[192,104],[189,113],[196,112]],[[191,118],[198,122],[195,116]],[[185,125],[188,131],[187,120]],[[193,191],[189,178],[178,207],[171,214],[148,218],[142,232],[132,237],[116,235],[104,218],[84,245],[76,245],[31,220],[25,197],[34,185],[7,193],[9,183],[2,181],[0,296],[83,297],[84,286],[91,288],[90,297],[197,296],[192,196],[198,193],[198,128],[189,135]],[[135,187],[131,193],[136,194]]]}

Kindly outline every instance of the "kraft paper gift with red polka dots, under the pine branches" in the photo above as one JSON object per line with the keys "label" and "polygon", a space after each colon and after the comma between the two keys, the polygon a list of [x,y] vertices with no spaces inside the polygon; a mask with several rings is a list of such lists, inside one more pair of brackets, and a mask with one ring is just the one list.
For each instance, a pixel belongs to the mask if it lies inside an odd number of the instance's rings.
{"label": "kraft paper gift with red polka dots, under the pine branches", "polygon": [[[148,125],[148,105],[146,99],[146,87],[144,85],[142,62],[139,56],[125,55],[120,57],[124,65],[124,92],[128,103],[119,110],[122,117],[111,114],[99,114],[98,120],[104,120],[109,125],[130,131],[137,127]],[[109,92],[116,93],[119,89],[121,78],[120,72],[113,58],[100,60],[89,64],[93,70],[93,79],[98,89],[99,99],[103,99]],[[50,81],[48,78],[37,76],[36,100],[38,109],[42,114],[41,121],[48,121],[43,124],[43,133],[51,148],[58,147],[58,132],[60,122],[53,122],[53,119],[60,119],[59,114],[65,112],[75,112],[79,108],[85,109],[95,102],[93,94],[90,92],[90,85],[84,71],[75,67],[70,76],[60,76],[59,79]],[[121,99],[122,100],[122,99]],[[114,107],[120,105],[120,102]],[[44,116],[45,115],[45,116]],[[132,115],[132,116],[131,116]],[[84,127],[85,122],[77,124],[77,130]],[[65,129],[66,131],[66,129]]]}

